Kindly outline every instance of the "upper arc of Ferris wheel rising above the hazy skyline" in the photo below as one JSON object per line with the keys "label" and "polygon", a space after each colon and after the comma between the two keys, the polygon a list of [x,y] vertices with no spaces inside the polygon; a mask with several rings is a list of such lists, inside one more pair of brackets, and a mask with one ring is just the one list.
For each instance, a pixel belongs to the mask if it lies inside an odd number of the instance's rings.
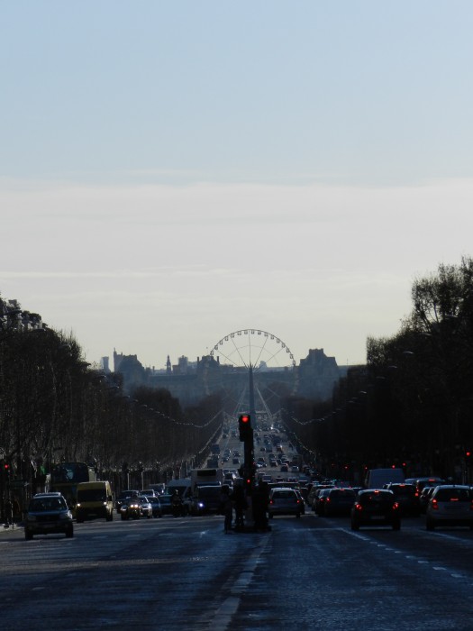
{"label": "upper arc of Ferris wheel rising above the hazy skyline", "polygon": [[233,368],[256,371],[292,370],[296,366],[293,353],[277,335],[260,329],[241,329],[225,335],[214,344],[211,356]]}

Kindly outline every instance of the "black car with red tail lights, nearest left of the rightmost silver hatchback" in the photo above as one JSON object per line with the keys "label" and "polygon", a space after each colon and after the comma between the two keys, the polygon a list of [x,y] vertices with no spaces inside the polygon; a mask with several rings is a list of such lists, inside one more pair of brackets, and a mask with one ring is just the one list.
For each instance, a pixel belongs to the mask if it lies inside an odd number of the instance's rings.
{"label": "black car with red tail lights, nearest left of the rightmost silver hatchback", "polygon": [[387,489],[360,490],[351,507],[351,530],[359,526],[391,526],[401,529],[401,515],[395,494]]}

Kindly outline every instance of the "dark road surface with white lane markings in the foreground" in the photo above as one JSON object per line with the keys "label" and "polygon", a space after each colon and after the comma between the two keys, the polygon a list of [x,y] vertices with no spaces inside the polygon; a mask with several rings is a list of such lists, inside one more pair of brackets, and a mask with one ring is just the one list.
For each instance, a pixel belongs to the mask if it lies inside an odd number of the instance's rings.
{"label": "dark road surface with white lane markings in the foreground", "polygon": [[350,530],[275,517],[223,534],[223,517],[86,522],[73,539],[0,534],[2,628],[388,631],[473,628],[473,533]]}

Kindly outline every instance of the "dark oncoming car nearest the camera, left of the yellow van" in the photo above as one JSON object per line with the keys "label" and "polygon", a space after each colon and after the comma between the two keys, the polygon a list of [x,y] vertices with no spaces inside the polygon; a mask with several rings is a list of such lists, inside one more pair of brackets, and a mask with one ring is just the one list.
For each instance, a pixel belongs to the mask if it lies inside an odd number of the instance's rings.
{"label": "dark oncoming car nearest the camera, left of the yellow van", "polygon": [[39,493],[30,500],[24,520],[24,538],[34,535],[74,535],[72,513],[60,493]]}

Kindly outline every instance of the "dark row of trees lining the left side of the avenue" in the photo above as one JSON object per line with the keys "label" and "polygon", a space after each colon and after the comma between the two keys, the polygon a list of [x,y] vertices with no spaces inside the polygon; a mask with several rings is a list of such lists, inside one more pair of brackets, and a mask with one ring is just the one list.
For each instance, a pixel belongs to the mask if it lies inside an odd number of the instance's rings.
{"label": "dark row of trees lining the left side of the avenue", "polygon": [[218,395],[183,409],[167,389],[128,396],[122,386],[120,374],[85,361],[71,334],[0,298],[0,492],[6,469],[34,487],[59,462],[159,481],[204,460],[223,422]]}

